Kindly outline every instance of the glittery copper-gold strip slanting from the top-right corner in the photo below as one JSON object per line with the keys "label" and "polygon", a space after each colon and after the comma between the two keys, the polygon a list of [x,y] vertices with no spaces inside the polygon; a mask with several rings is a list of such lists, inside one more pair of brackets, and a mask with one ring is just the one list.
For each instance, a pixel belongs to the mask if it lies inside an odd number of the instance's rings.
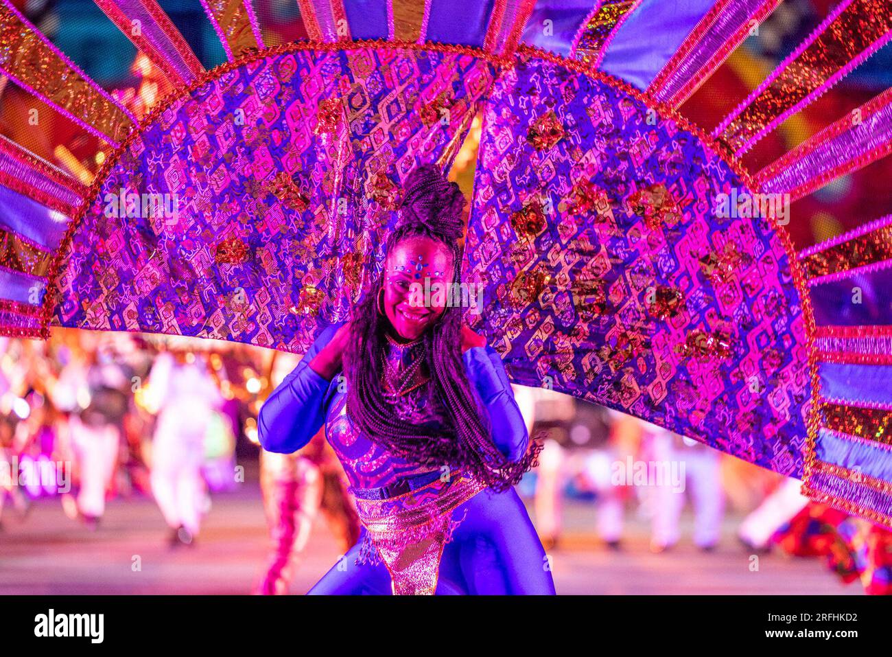
{"label": "glittery copper-gold strip slanting from the top-right corner", "polygon": [[855,68],[859,55],[871,54],[888,40],[890,31],[888,0],[854,0],[802,52],[786,66],[781,64],[767,86],[732,112],[715,135],[734,150],[752,146],[791,111],[801,109]]}

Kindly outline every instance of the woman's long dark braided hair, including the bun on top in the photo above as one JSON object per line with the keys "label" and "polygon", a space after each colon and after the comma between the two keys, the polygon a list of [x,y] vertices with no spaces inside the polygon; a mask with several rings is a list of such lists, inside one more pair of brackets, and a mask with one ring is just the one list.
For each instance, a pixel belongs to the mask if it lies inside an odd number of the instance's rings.
{"label": "woman's long dark braided hair, including the bun on top", "polygon": [[[461,275],[458,240],[463,233],[465,197],[434,165],[412,171],[406,180],[399,219],[385,243],[386,254],[405,239],[429,237],[449,249],[453,281]],[[431,386],[445,411],[446,427],[426,428],[401,420],[384,397],[380,354],[386,348],[387,318],[378,312],[377,297],[384,271],[352,314],[352,337],[346,348],[347,413],[356,428],[391,453],[419,465],[465,468],[496,490],[514,486],[529,470],[535,450],[519,462],[509,461],[492,442],[483,412],[465,374],[461,357],[461,308],[447,305],[442,316],[422,336],[421,356]]]}

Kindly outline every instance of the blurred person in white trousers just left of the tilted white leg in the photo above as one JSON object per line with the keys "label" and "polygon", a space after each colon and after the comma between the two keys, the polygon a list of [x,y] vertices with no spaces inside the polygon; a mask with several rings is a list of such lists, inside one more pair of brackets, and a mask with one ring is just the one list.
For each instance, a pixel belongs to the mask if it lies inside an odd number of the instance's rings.
{"label": "blurred person in white trousers just left of the tilted white leg", "polygon": [[678,543],[681,511],[686,495],[690,495],[694,543],[704,552],[711,552],[719,542],[724,516],[721,454],[696,440],[648,422],[644,424],[649,458],[670,464],[673,471],[683,475],[681,482],[650,487],[651,551],[661,553]]}

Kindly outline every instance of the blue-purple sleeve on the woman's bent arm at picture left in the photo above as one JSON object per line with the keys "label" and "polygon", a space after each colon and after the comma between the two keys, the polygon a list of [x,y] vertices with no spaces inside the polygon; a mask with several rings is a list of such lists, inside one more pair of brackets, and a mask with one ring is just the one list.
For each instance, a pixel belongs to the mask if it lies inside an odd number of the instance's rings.
{"label": "blue-purple sleeve on the woman's bent arm at picture left", "polygon": [[319,334],[297,367],[260,407],[260,445],[268,452],[296,452],[322,428],[331,382],[310,369],[310,361],[328,344],[339,326],[333,324]]}

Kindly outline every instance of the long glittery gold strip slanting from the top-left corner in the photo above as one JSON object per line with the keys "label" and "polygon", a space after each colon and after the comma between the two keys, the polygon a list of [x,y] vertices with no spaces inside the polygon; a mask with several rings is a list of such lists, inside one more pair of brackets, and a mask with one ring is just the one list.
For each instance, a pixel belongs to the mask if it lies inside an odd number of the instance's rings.
{"label": "long glittery gold strip slanting from the top-left corner", "polygon": [[4,4],[0,4],[0,70],[114,142],[120,142],[132,126],[120,107],[64,62]]}

